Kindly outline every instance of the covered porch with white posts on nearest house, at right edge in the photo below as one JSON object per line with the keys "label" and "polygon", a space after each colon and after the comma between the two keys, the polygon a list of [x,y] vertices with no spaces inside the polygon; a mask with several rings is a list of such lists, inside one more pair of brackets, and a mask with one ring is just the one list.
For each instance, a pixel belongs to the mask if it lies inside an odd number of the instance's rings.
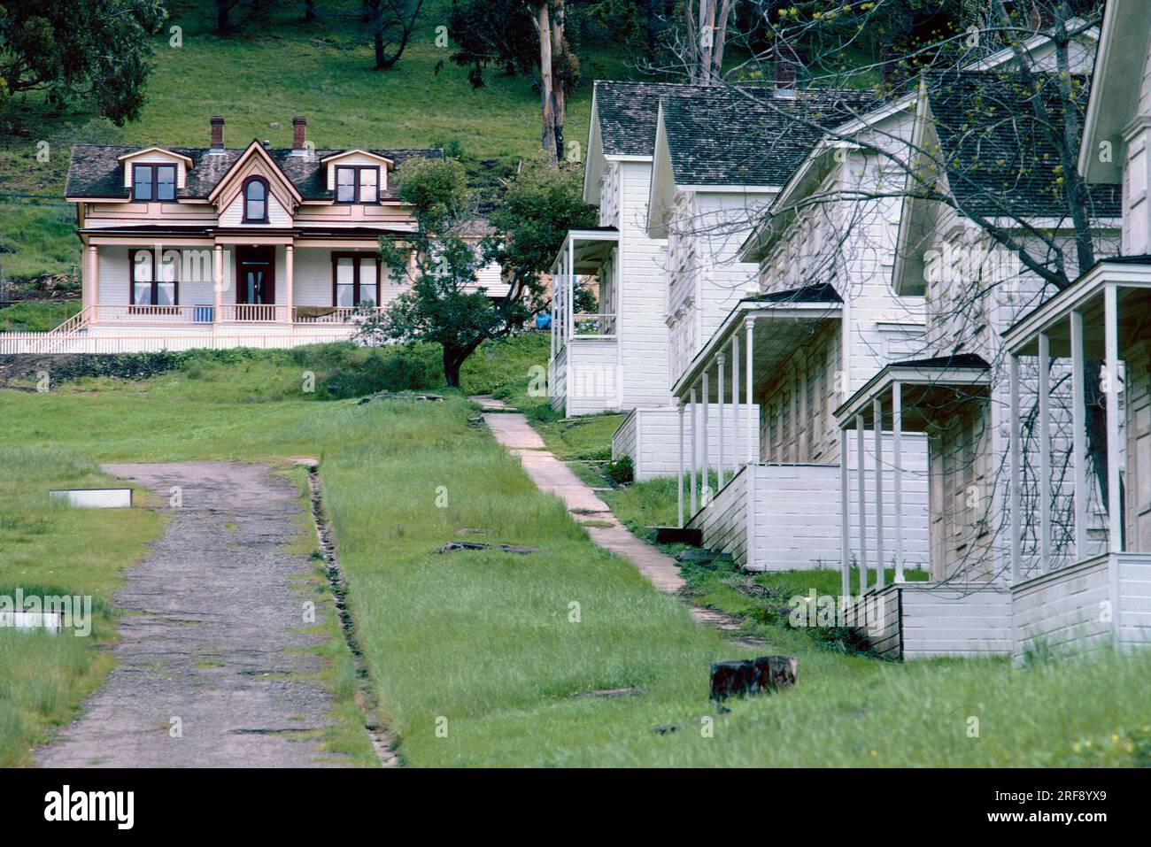
{"label": "covered porch with white posts on nearest house, at right edge", "polygon": [[[1014,655],[1151,643],[1151,261],[1146,257],[1098,262],[1074,285],[1004,334],[1011,373],[1011,572]],[[1037,363],[1039,496],[1024,501],[1020,367]],[[1074,509],[1072,564],[1059,566],[1053,543],[1050,474],[1051,387],[1057,359],[1070,361]],[[1105,406],[1106,549],[1089,536],[1087,380],[1095,379]],[[1098,449],[1098,448],[1097,448]],[[1038,567],[1024,569],[1022,527],[1038,509]]]}

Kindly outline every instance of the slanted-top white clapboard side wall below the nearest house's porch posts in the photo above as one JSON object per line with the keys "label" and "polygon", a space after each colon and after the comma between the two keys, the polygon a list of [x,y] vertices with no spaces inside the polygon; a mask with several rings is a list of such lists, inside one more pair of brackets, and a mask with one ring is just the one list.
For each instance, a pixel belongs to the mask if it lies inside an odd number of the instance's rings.
{"label": "slanted-top white clapboard side wall below the nearest house's porch posts", "polygon": [[1110,556],[1099,556],[1012,588],[1016,662],[1031,651],[1112,643],[1114,626],[1104,613],[1112,602],[1110,563]]}

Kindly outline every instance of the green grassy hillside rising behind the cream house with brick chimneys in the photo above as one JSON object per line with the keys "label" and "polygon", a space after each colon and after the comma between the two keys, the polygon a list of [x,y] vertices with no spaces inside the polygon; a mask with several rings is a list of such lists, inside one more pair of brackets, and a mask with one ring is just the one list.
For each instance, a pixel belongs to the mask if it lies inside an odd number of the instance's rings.
{"label": "green grassy hillside rising behind the cream house with brick chimneys", "polygon": [[[17,110],[28,135],[0,135],[0,273],[70,272],[78,261],[68,204],[13,197],[62,199],[75,143],[206,146],[208,116],[222,114],[228,146],[253,138],[290,146],[291,119],[304,115],[317,146],[459,145],[477,175],[539,147],[539,94],[529,78],[489,70],[487,84],[472,89],[467,69],[449,58],[453,47],[435,46],[436,28],[448,24],[445,0],[427,3],[403,59],[387,71],[372,70],[359,2],[318,2],[321,18],[310,24],[300,22],[298,3],[289,3],[268,25],[228,39],[211,33],[211,6],[168,5],[169,26],[182,29],[183,43],[171,47],[170,35],[155,39],[155,71],[139,121],[116,128],[83,108],[53,116],[36,99]],[[609,44],[590,39],[581,54],[586,79],[569,100],[566,136],[580,144],[582,158],[592,79],[628,70]],[[49,145],[47,162],[37,161],[40,142]]]}

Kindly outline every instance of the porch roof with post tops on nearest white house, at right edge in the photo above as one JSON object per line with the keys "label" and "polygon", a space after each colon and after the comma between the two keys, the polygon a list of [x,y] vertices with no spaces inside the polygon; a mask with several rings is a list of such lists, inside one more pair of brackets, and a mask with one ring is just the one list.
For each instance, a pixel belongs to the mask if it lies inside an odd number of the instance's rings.
{"label": "porch roof with post tops on nearest white house, at right edge", "polygon": [[1051,356],[1070,356],[1070,313],[1083,315],[1083,354],[1104,358],[1103,292],[1118,285],[1119,351],[1151,336],[1151,255],[1100,259],[1074,284],[1041,304],[1004,333],[1004,345],[1017,356],[1038,356],[1046,333]]}

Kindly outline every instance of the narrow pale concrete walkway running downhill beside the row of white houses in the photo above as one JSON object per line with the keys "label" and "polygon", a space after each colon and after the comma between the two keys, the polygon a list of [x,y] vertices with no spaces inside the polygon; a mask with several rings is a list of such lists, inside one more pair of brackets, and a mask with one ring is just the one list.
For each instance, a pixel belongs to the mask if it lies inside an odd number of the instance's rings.
{"label": "narrow pale concrete walkway running downhill beside the row of white houses", "polygon": [[[559,497],[572,517],[584,524],[595,543],[631,562],[660,590],[679,594],[687,586],[676,560],[632,535],[616,519],[608,504],[548,450],[543,438],[527,422],[526,417],[496,412],[485,413],[483,420],[491,428],[496,441],[508,448],[508,452],[519,458],[536,487]],[[607,526],[600,526],[601,524]],[[698,605],[689,605],[689,609],[692,617],[701,624],[725,631],[740,628],[738,620],[723,612]]]}

